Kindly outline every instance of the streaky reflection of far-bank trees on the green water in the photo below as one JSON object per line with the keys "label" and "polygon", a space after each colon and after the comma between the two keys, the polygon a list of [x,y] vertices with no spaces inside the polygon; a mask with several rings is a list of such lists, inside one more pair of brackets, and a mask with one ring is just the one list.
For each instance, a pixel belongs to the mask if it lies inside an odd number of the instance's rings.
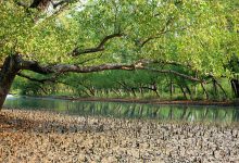
{"label": "streaky reflection of far-bank trees on the green water", "polygon": [[[81,102],[71,105],[77,108],[79,115],[101,115],[127,118],[156,118],[177,121],[238,121],[239,110],[213,106],[151,105],[114,102]],[[80,105],[80,106],[79,106]],[[232,115],[232,116],[231,116]]]}

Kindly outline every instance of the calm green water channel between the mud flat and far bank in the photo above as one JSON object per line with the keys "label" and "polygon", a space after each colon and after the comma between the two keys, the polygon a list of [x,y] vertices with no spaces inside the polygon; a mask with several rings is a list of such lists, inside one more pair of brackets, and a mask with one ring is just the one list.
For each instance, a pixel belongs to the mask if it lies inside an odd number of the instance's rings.
{"label": "calm green water channel between the mud flat and far bank", "polygon": [[54,111],[74,115],[153,118],[189,122],[239,122],[239,106],[158,105],[124,102],[87,102],[50,98],[8,97],[4,106]]}

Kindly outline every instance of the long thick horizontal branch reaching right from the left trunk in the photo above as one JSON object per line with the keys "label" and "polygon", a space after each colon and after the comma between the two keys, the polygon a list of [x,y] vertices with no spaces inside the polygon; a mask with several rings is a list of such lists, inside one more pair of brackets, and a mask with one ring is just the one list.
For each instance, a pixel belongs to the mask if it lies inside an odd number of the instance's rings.
{"label": "long thick horizontal branch reaching right from the left trunk", "polygon": [[165,74],[173,74],[179,77],[184,77],[186,79],[192,82],[204,83],[204,80],[186,75],[176,71],[172,70],[156,70],[147,67],[148,64],[154,63],[153,61],[144,61],[140,60],[133,64],[101,64],[95,66],[79,66],[79,65],[71,65],[71,64],[56,64],[56,65],[40,65],[34,61],[24,61],[22,64],[22,70],[29,70],[39,74],[62,74],[62,73],[92,73],[92,72],[101,72],[101,71],[109,71],[109,70],[125,70],[125,71],[134,71],[134,70],[147,70],[151,72],[158,73],[165,73]]}

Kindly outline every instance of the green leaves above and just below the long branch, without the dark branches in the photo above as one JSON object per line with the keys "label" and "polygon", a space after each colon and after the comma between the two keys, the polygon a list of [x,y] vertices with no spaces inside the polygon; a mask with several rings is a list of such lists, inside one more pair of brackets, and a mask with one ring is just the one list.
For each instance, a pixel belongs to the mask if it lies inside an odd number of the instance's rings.
{"label": "green leaves above and just below the long branch, without the dark branches", "polygon": [[[61,11],[40,12],[14,0],[0,1],[0,62],[14,52],[45,64],[98,65],[148,59],[184,67],[153,65],[156,68],[230,79],[238,75],[238,7],[237,0],[89,0],[70,3]],[[76,58],[70,54],[75,48],[97,47],[105,36],[117,33],[123,37],[109,40],[102,52]],[[63,82],[77,90],[117,88],[115,82],[128,87],[156,82],[166,87],[168,76],[162,76],[109,72],[78,75],[77,80],[75,75],[67,75]]]}

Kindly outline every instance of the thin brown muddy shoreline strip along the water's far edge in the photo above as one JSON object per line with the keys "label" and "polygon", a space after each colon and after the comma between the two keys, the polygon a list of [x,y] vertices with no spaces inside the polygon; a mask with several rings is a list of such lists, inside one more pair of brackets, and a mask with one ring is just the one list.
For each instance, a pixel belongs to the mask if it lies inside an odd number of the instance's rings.
{"label": "thin brown muddy shoreline strip along the water's far edge", "polygon": [[75,98],[67,96],[24,96],[30,98],[50,98],[71,101],[99,101],[99,102],[125,102],[125,103],[142,103],[142,104],[166,104],[166,105],[215,105],[215,106],[239,106],[239,101],[206,101],[206,100],[160,100],[160,99],[121,99],[121,98]]}

